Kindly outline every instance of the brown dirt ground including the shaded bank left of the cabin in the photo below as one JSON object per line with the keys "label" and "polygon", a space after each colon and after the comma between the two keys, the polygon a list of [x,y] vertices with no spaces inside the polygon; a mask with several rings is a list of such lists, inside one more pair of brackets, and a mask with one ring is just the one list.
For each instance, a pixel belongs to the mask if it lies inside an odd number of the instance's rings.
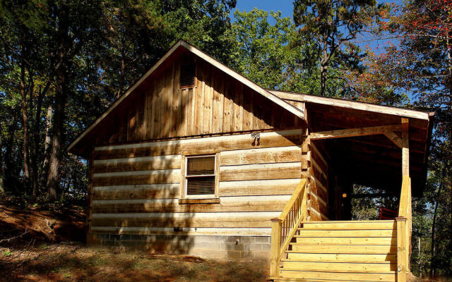
{"label": "brown dirt ground including the shaded bank left of the cabin", "polygon": [[0,202],[0,281],[266,281],[268,263],[87,247],[82,207]]}

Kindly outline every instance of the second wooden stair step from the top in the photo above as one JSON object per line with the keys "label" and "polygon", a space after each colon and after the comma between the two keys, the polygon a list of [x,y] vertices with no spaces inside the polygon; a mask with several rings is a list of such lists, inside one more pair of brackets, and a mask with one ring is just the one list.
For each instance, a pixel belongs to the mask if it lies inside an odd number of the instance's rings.
{"label": "second wooden stair step from the top", "polygon": [[320,230],[320,229],[306,229],[298,228],[299,234],[295,237],[396,237],[396,232],[393,230]]}

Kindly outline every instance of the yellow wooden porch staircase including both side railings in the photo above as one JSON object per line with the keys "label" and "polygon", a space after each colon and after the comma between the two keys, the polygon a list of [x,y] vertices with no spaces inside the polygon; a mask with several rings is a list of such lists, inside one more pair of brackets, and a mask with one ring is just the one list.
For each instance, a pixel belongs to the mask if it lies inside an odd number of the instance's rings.
{"label": "yellow wooden porch staircase including both side railings", "polygon": [[269,280],[398,281],[410,272],[411,180],[403,177],[399,217],[383,221],[307,221],[302,179],[272,219]]}

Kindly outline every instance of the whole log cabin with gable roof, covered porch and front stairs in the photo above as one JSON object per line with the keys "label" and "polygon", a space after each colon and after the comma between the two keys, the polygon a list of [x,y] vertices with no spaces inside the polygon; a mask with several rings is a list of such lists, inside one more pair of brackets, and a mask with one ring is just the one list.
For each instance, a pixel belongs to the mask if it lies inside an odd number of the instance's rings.
{"label": "whole log cabin with gable roof, covered porch and front stairs", "polygon": [[[68,148],[88,159],[87,242],[267,259],[273,281],[405,281],[433,117],[266,90],[181,40]],[[352,221],[354,184],[398,212]]]}

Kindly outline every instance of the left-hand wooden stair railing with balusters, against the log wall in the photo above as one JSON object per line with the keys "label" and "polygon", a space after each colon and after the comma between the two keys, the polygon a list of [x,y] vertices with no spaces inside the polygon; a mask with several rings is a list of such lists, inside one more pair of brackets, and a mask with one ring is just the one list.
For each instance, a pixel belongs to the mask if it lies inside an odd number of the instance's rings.
{"label": "left-hand wooden stair railing with balusters, against the log wall", "polygon": [[281,257],[307,216],[307,180],[302,179],[297,189],[277,218],[271,219],[270,276],[278,276]]}

